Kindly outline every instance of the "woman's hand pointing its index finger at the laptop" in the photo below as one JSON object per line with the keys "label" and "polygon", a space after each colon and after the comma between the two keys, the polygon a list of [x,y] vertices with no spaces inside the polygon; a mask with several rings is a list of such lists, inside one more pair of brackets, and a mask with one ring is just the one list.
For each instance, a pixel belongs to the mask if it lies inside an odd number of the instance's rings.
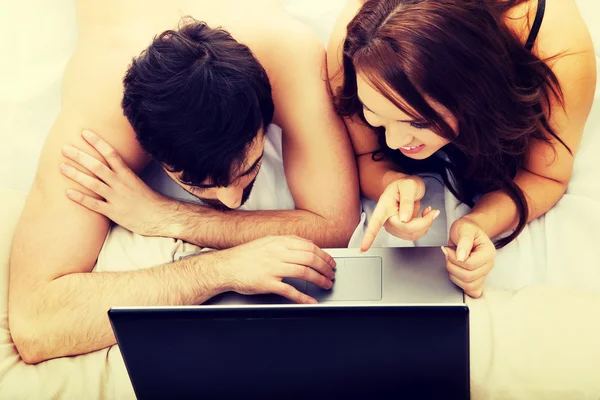
{"label": "woman's hand pointing its index finger at the laptop", "polygon": [[419,177],[409,176],[390,183],[373,211],[360,246],[361,251],[371,247],[381,227],[401,239],[414,241],[423,237],[433,220],[440,215],[439,210],[427,207],[421,217],[417,217],[424,195],[425,183]]}

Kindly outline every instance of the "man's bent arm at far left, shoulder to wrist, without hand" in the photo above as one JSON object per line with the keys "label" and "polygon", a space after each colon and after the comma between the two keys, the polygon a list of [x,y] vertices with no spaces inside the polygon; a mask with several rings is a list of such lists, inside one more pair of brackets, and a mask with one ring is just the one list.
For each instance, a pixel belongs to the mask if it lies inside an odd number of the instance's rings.
{"label": "man's bent arm at far left, shoulder to wrist, without hand", "polygon": [[60,163],[68,161],[61,149],[71,145],[102,161],[81,137],[83,129],[93,126],[132,170],[140,171],[148,160],[120,109],[122,65],[93,52],[76,53],[67,66],[63,109],[44,143],[13,238],[9,324],[28,363],[114,343],[106,316],[110,306],[189,303],[214,289],[211,275],[191,261],[139,272],[89,273],[110,221],[65,196],[72,188],[97,198],[60,174]]}

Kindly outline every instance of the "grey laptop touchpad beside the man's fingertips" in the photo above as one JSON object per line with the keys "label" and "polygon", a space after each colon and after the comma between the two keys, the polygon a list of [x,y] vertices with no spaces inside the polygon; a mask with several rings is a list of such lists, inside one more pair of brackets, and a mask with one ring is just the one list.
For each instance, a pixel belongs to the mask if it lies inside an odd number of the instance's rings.
{"label": "grey laptop touchpad beside the man's fingertips", "polygon": [[312,283],[306,285],[307,294],[319,302],[325,301],[378,301],[381,300],[381,258],[335,258],[335,281],[330,290]]}

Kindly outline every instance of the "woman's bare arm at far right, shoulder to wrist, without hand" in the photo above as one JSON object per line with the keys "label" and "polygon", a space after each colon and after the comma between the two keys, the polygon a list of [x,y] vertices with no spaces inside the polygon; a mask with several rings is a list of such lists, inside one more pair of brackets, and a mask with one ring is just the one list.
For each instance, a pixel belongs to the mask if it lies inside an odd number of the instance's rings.
{"label": "woman's bare arm at far right, shoulder to wrist, without hand", "polygon": [[[555,3],[554,7],[544,20],[548,25],[538,37],[537,49],[542,59],[564,52],[550,66],[561,85],[565,107],[554,99],[549,123],[572,153],[552,137],[552,145],[532,143],[525,168],[514,180],[525,194],[528,222],[545,214],[565,193],[596,88],[594,48],[576,5]],[[518,223],[517,208],[502,191],[483,196],[468,218],[489,237],[514,229]]]}

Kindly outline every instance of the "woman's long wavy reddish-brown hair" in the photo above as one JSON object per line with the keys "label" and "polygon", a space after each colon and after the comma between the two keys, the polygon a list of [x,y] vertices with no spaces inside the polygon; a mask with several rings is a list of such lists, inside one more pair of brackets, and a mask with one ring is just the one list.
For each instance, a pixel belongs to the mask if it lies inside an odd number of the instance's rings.
{"label": "woman's long wavy reddish-brown hair", "polygon": [[[347,27],[344,83],[335,96],[340,115],[358,115],[366,123],[357,96],[359,71],[399,109],[450,140],[443,149],[447,158],[413,160],[387,147],[385,130],[374,128],[381,146],[374,159],[383,154],[408,174],[439,174],[470,207],[478,196],[504,190],[519,223],[496,241],[497,248],[527,224],[525,195],[513,179],[525,168],[529,146],[536,140],[550,144],[551,135],[567,147],[548,124],[551,98],[563,105],[556,76],[504,23],[506,11],[524,1],[366,1]],[[458,132],[426,98],[456,117]]]}

